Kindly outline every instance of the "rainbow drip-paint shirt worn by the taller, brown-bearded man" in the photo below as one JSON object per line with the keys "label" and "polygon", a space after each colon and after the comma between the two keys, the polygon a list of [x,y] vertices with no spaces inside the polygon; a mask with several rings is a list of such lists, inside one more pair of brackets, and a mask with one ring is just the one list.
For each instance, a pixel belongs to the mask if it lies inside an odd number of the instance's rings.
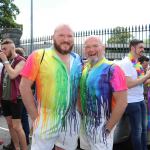
{"label": "rainbow drip-paint shirt worn by the taller, brown-bearded man", "polygon": [[70,53],[68,71],[53,47],[45,49],[41,62],[42,55],[43,49],[34,51],[21,75],[36,81],[39,118],[35,128],[41,128],[41,136],[51,136],[58,131],[66,114],[75,111],[82,64],[79,55]]}

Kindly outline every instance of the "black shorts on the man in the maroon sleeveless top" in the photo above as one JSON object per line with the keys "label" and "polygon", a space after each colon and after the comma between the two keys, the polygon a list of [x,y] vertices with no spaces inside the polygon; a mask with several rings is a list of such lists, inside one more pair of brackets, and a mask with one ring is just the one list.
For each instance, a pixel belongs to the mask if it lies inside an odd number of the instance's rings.
{"label": "black shorts on the man in the maroon sleeveless top", "polygon": [[10,100],[2,100],[2,110],[5,117],[12,116],[12,119],[21,119],[23,103],[21,99],[17,99],[14,103]]}

